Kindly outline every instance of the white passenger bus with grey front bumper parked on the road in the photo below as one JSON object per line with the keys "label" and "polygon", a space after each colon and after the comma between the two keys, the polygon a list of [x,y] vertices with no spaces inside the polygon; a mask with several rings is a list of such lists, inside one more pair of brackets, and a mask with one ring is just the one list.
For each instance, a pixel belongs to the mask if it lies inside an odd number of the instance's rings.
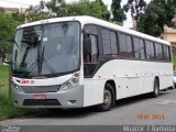
{"label": "white passenger bus with grey front bumper parked on the road", "polygon": [[18,26],[12,57],[14,105],[108,111],[116,100],[173,86],[170,44],[91,16]]}

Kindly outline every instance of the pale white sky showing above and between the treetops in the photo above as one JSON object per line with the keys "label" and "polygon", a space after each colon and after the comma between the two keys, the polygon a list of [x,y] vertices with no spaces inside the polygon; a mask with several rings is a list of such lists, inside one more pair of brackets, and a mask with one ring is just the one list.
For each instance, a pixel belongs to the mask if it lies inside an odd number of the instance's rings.
{"label": "pale white sky showing above and between the treetops", "polygon": [[[7,7],[7,8],[28,8],[29,6],[36,6],[40,3],[41,0],[0,0],[0,7]],[[44,0],[50,1],[50,0]],[[67,2],[74,2],[78,0],[66,0]],[[112,0],[102,0],[105,4],[108,6],[110,9]],[[122,6],[127,3],[128,0],[122,0]],[[145,0],[146,2],[150,2],[151,0]],[[132,19],[130,15],[130,12],[127,13],[128,20],[124,22],[124,28],[132,28]]]}

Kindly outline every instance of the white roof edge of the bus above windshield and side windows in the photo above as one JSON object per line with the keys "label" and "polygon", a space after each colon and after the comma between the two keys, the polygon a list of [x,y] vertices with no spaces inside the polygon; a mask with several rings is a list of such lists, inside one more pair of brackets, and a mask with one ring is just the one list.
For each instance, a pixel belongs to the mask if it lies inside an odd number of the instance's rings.
{"label": "white roof edge of the bus above windshield and side windows", "polygon": [[143,37],[146,40],[151,40],[151,41],[155,41],[157,43],[163,43],[163,44],[167,44],[170,45],[169,42],[141,33],[141,32],[136,32],[134,30],[130,30],[130,29],[125,29],[123,26],[120,26],[118,24],[114,23],[110,23],[100,19],[96,19],[92,16],[88,16],[88,15],[79,15],[79,16],[64,16],[64,18],[54,18],[54,19],[47,19],[47,20],[41,20],[41,21],[36,21],[36,22],[31,22],[31,23],[26,23],[26,24],[22,24],[19,25],[18,29],[20,28],[26,28],[26,26],[32,26],[32,25],[38,25],[38,24],[43,24],[43,23],[54,23],[54,22],[63,22],[63,21],[79,21],[81,23],[81,26],[84,26],[85,24],[97,24],[97,25],[101,25],[108,29],[113,29],[127,34],[131,34],[134,36],[139,36],[139,37]]}

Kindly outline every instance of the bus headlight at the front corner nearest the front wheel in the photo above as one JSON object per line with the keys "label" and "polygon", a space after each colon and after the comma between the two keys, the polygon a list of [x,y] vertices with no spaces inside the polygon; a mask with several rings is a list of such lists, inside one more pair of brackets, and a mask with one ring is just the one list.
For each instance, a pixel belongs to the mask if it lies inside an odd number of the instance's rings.
{"label": "bus headlight at the front corner nearest the front wheel", "polygon": [[74,88],[78,85],[79,85],[79,76],[74,75],[72,79],[69,79],[68,81],[66,81],[62,85],[59,90],[67,90],[67,89]]}

